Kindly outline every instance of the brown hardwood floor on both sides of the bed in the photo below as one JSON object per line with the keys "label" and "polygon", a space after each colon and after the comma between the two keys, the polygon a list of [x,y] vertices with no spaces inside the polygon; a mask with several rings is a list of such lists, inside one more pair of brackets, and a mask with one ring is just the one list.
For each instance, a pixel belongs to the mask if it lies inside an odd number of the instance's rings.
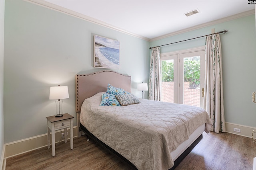
{"label": "brown hardwood floor on both sides of the bed", "polygon": [[[203,133],[203,139],[175,170],[252,170],[252,139],[230,133]],[[60,143],[56,155],[47,147],[7,158],[6,170],[132,170],[126,162],[86,137]]]}

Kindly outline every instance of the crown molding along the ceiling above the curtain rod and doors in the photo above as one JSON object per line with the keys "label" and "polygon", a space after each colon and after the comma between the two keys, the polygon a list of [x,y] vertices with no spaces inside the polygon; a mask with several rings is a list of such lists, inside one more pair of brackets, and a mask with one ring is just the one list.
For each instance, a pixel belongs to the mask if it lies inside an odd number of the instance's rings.
{"label": "crown molding along the ceiling above the curtain rod and doors", "polygon": [[169,33],[169,34],[166,34],[166,35],[162,35],[160,37],[152,38],[152,39],[150,39],[150,41],[156,41],[156,40],[159,40],[159,39],[171,37],[171,36],[178,35],[178,34],[181,34],[181,33],[185,33],[185,32],[188,32],[188,31],[193,31],[195,29],[200,29],[200,28],[208,27],[208,26],[215,25],[215,24],[218,24],[218,23],[235,20],[235,19],[242,18],[242,17],[245,17],[245,16],[250,16],[252,14],[255,14],[255,10],[249,10],[249,11],[246,11],[246,12],[242,12],[242,13],[239,13],[239,14],[235,14],[235,15],[232,15],[232,16],[225,17],[225,18],[221,18],[219,20],[214,20],[214,21],[206,22],[206,23],[203,23],[203,24],[200,24],[200,25],[196,25],[194,27],[181,29],[179,31],[175,31],[175,32],[172,32],[172,33]]}

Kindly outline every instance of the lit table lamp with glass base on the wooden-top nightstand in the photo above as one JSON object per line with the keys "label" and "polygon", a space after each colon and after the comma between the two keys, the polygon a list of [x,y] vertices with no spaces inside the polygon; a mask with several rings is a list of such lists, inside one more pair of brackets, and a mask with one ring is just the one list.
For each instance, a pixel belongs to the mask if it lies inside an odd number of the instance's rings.
{"label": "lit table lamp with glass base on the wooden-top nightstand", "polygon": [[67,99],[69,98],[68,95],[68,86],[52,86],[50,87],[50,100],[56,100],[56,115],[55,117],[61,117],[63,116],[62,112],[62,102],[63,100],[61,99]]}

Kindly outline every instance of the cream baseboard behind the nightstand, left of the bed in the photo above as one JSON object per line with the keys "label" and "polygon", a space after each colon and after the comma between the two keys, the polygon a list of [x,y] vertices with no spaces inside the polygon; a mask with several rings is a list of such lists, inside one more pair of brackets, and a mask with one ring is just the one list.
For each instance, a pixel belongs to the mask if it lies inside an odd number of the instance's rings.
{"label": "cream baseboard behind the nightstand, left of the bed", "polygon": [[[61,139],[61,133],[64,131],[56,131],[55,132],[55,142],[58,142]],[[77,136],[77,126],[73,127],[73,137]],[[68,129],[68,138],[70,134],[70,129]],[[39,149],[47,146],[47,133],[43,135],[38,135],[35,137],[30,137],[26,139],[22,139],[19,141],[14,141],[11,143],[4,144],[5,152],[4,158],[16,156],[18,154],[26,153],[35,149]],[[2,161],[2,160],[1,160]]]}

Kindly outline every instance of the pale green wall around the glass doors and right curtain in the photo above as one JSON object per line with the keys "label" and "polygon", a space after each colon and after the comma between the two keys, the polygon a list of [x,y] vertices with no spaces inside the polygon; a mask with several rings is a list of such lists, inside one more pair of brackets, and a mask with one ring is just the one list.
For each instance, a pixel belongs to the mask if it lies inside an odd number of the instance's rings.
{"label": "pale green wall around the glass doors and right curtain", "polygon": [[[252,102],[252,92],[256,92],[256,41],[255,15],[196,29],[158,41],[150,46],[182,41],[223,29],[221,34],[224,113],[227,122],[256,127],[256,104]],[[205,38],[194,39],[160,48],[161,53],[204,46]]]}

